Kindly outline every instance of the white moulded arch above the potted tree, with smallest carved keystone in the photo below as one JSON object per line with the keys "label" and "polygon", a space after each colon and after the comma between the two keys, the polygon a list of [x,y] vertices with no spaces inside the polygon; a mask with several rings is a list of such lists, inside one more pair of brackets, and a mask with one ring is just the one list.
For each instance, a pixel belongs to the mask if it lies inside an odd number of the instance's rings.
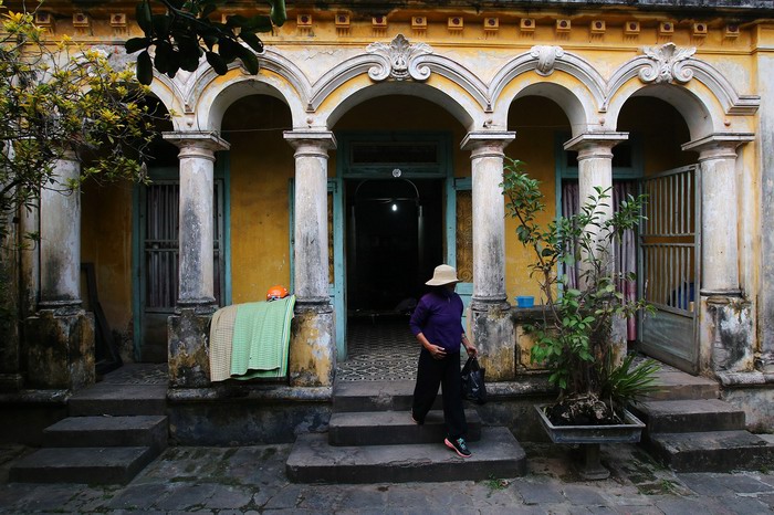
{"label": "white moulded arch above the potted tree, with smallest carved keystone", "polygon": [[[557,71],[562,73],[555,74]],[[529,72],[542,78],[535,81]],[[605,102],[605,90],[602,75],[584,59],[561,46],[536,45],[500,69],[490,84],[489,95],[498,120],[508,119],[511,103],[517,97],[551,98],[567,114],[576,135],[599,130],[597,113]]]}

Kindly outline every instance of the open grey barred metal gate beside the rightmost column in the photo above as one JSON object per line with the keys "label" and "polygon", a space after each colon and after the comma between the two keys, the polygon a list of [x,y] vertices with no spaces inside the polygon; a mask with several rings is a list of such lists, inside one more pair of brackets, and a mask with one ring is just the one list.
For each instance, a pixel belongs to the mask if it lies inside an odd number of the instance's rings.
{"label": "open grey barred metal gate beside the rightmost column", "polygon": [[699,366],[701,185],[698,165],[641,180],[648,196],[639,232],[639,295],[655,308],[642,314],[640,349],[681,370]]}

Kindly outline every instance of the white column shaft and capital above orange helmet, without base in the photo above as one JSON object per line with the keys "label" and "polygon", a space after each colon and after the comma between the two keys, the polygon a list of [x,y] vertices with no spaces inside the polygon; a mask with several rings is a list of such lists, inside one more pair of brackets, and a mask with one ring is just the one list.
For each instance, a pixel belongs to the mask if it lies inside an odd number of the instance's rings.
{"label": "white column shaft and capital above orange helmet, without base", "polygon": [[330,132],[289,130],[295,148],[295,295],[301,304],[328,304],[328,149],[336,148]]}

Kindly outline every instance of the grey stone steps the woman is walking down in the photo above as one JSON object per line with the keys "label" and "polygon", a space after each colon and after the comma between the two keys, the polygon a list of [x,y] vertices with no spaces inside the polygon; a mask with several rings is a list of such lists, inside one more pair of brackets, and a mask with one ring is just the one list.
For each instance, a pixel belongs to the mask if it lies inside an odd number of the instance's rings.
{"label": "grey stone steps the woman is walking down", "polygon": [[412,392],[411,381],[338,382],[328,433],[296,439],[285,464],[287,477],[297,483],[400,483],[526,473],[526,455],[513,434],[482,427],[472,404],[466,404],[466,418],[473,455],[459,458],[443,444],[442,411],[428,413],[422,425],[411,420]]}

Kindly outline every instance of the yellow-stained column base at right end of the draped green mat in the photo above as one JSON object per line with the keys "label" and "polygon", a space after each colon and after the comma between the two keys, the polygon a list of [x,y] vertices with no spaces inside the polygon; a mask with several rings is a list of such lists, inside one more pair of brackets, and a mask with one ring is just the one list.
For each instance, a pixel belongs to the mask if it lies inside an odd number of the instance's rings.
{"label": "yellow-stained column base at right end of the draped green mat", "polygon": [[290,341],[291,387],[333,386],[336,333],[331,302],[297,301]]}

